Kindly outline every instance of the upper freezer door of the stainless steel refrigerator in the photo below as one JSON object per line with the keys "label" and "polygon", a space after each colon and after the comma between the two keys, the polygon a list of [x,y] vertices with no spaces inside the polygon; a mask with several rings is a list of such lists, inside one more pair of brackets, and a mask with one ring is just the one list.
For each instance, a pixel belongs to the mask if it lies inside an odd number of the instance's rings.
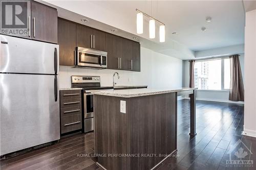
{"label": "upper freezer door of the stainless steel refrigerator", "polygon": [[59,45],[0,35],[0,72],[58,74]]}

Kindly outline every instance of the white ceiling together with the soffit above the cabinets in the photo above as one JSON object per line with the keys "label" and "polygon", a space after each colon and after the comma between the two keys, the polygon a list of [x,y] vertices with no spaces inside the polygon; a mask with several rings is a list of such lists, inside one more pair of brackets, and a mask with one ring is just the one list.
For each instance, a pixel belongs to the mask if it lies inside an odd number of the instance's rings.
{"label": "white ceiling together with the soffit above the cabinets", "polygon": [[[79,21],[85,16],[89,18],[88,26],[107,32],[117,28],[120,33],[115,34],[137,35],[142,45],[181,59],[193,58],[194,51],[244,43],[242,1],[45,1],[60,7],[57,9],[61,17]],[[159,43],[158,28],[156,38],[148,38],[148,19],[144,19],[144,33],[136,33],[136,8],[165,23],[164,43]],[[75,17],[67,11],[79,15]],[[211,16],[212,22],[205,22],[206,16]],[[95,25],[94,21],[106,26]],[[202,32],[201,27],[207,30]],[[173,35],[173,32],[178,34]]]}

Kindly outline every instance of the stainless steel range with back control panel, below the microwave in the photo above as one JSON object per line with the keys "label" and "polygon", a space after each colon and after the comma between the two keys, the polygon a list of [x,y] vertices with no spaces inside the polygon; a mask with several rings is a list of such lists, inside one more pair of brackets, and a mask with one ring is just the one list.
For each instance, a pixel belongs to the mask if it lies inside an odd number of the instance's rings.
{"label": "stainless steel range with back control panel, below the microwave", "polygon": [[71,76],[71,87],[83,88],[83,132],[94,130],[94,110],[92,91],[113,89],[113,87],[100,86],[99,76]]}

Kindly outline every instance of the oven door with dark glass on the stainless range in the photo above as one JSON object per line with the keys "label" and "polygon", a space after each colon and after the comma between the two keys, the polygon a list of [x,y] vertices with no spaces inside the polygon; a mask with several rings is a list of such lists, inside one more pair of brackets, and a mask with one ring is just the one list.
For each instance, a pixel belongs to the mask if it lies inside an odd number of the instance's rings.
{"label": "oven door with dark glass on the stainless range", "polygon": [[93,94],[84,93],[83,95],[84,105],[84,118],[93,117]]}

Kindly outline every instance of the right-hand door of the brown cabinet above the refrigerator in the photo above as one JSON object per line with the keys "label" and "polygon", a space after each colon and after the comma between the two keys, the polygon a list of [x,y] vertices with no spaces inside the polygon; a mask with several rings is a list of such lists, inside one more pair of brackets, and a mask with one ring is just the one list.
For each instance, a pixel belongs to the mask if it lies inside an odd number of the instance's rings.
{"label": "right-hand door of the brown cabinet above the refrigerator", "polygon": [[57,10],[31,1],[32,39],[57,43]]}

